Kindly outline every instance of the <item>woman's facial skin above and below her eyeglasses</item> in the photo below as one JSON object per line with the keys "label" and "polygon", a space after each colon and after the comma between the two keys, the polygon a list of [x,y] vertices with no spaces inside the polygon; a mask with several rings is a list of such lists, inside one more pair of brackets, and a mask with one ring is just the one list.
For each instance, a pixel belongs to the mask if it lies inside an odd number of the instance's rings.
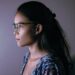
{"label": "woman's facial skin above and below her eyeglasses", "polygon": [[[14,23],[18,24],[18,23],[30,23],[30,21],[28,20],[27,17],[24,17],[23,15],[17,13],[14,19]],[[30,25],[24,25],[23,27],[21,27],[18,31],[14,32],[16,41],[17,41],[17,45],[20,47],[24,47],[26,45],[29,45],[30,43],[32,43],[31,37],[30,37]]]}

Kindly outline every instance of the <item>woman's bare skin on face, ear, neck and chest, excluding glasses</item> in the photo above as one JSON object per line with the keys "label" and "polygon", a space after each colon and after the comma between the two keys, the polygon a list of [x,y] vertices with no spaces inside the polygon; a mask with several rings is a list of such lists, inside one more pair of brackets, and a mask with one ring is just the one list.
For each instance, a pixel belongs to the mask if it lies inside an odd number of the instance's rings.
{"label": "woman's bare skin on face, ear, neck and chest, excluding glasses", "polygon": [[[26,16],[22,15],[21,13],[17,13],[14,18],[14,23],[18,24],[21,22],[30,23],[31,21]],[[42,25],[37,24],[34,35],[35,36],[38,35],[42,31],[42,29],[43,29]],[[29,57],[28,63],[25,68],[26,70],[24,70],[23,75],[25,75],[25,74],[30,75],[30,73],[35,68],[36,64],[38,63],[39,58],[41,58],[47,54],[47,52],[45,50],[41,50],[39,48],[37,41],[33,41],[31,32],[32,32],[31,24],[23,25],[19,30],[14,31],[17,45],[19,47],[28,46],[29,51],[30,51],[30,57]],[[34,61],[31,61],[32,59]]]}

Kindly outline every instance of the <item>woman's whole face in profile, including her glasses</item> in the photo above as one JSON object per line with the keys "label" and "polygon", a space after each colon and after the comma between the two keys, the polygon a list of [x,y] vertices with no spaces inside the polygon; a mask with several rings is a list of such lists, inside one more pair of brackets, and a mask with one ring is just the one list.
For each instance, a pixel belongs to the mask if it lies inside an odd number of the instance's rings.
{"label": "woman's whole face in profile, including her glasses", "polygon": [[31,22],[21,13],[17,13],[14,19],[14,35],[17,45],[20,47],[32,44]]}

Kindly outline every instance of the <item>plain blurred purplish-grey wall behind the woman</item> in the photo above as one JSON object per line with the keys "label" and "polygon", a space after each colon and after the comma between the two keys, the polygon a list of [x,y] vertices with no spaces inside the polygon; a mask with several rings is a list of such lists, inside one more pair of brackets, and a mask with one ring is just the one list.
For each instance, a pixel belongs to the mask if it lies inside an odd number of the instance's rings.
{"label": "plain blurred purplish-grey wall behind the woman", "polygon": [[[13,20],[17,7],[30,0],[0,0],[0,75],[20,75],[20,64],[27,48],[17,47]],[[75,64],[75,0],[34,0],[43,2],[53,12],[65,31],[70,55]],[[74,71],[71,75],[75,75]]]}

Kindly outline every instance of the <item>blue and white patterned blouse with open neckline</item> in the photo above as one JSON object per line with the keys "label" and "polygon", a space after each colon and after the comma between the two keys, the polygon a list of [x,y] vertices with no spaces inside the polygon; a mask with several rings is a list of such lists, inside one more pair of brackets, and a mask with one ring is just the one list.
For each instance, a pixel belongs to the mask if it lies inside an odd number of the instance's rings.
{"label": "blue and white patterned blouse with open neckline", "polygon": [[[23,75],[29,55],[30,53],[26,53],[26,55],[24,56],[23,65],[21,66],[20,70],[20,75]],[[64,66],[59,61],[59,59],[51,54],[47,54],[42,58],[40,58],[39,63],[36,65],[36,68],[33,70],[31,75],[66,75],[66,74],[64,71]]]}

